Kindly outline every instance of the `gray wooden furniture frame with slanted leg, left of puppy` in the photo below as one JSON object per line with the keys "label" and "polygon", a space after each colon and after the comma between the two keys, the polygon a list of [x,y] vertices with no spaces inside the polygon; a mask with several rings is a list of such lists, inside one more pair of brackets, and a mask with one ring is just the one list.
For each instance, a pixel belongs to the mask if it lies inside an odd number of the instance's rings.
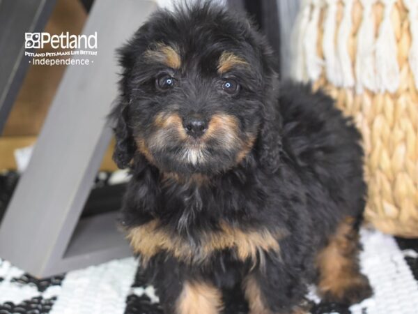
{"label": "gray wooden furniture frame with slanted leg, left of puppy", "polygon": [[[41,30],[54,6],[54,1],[47,0],[6,3],[16,6],[9,8],[7,16],[0,13],[0,21],[8,23],[0,23],[0,48],[7,42],[3,25],[12,27],[14,20],[24,24],[19,38],[14,38],[13,50],[4,54],[0,49],[0,72],[8,70],[8,77],[2,75],[0,80],[0,87],[4,87],[0,126],[17,94],[16,82],[22,80],[29,63],[23,57],[22,33]],[[31,13],[26,12],[29,6]],[[93,4],[83,33],[98,32],[98,56],[88,66],[68,66],[65,71],[29,166],[0,226],[0,257],[33,276],[50,276],[131,254],[116,228],[113,212],[79,217],[111,139],[106,115],[117,95],[115,50],[155,8],[154,1],[144,0],[100,0]],[[13,37],[11,32],[9,37]],[[16,56],[24,59],[16,60]],[[7,60],[15,62],[6,64]],[[13,89],[10,84],[15,84]]]}

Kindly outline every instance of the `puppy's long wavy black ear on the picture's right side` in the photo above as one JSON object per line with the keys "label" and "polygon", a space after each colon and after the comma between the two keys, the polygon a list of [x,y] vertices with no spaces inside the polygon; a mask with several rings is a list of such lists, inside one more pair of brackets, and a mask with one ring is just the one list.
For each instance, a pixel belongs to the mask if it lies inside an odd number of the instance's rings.
{"label": "puppy's long wavy black ear on the picture's right side", "polygon": [[281,115],[279,112],[278,60],[267,43],[261,43],[263,66],[262,126],[258,138],[261,167],[274,173],[279,169],[281,155]]}

